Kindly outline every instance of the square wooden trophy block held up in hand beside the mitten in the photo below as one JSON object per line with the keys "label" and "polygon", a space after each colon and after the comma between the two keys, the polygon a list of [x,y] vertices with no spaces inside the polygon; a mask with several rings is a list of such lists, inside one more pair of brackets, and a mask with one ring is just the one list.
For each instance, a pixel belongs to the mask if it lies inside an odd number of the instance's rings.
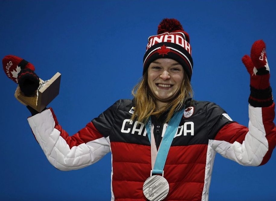
{"label": "square wooden trophy block held up in hand beside the mitten", "polygon": [[[40,79],[40,86],[34,96],[24,96],[22,92],[15,93],[18,100],[41,112],[59,94],[61,74],[57,72],[50,80]],[[19,87],[18,87],[19,88]]]}

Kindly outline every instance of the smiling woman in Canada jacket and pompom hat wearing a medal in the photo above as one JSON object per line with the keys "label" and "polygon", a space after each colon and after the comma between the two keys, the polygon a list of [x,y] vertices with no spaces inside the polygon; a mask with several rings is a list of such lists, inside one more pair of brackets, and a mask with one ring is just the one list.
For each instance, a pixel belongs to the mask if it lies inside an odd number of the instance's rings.
{"label": "smiling woman in Canada jacket and pompom hat wearing a medal", "polygon": [[275,147],[263,41],[254,43],[243,63],[250,74],[249,128],[218,105],[192,99],[189,35],[174,19],[162,20],[157,35],[149,37],[133,100],[118,100],[73,136],[52,108],[28,122],[49,162],[60,170],[86,167],[111,151],[111,200],[208,200],[216,152],[258,166]]}

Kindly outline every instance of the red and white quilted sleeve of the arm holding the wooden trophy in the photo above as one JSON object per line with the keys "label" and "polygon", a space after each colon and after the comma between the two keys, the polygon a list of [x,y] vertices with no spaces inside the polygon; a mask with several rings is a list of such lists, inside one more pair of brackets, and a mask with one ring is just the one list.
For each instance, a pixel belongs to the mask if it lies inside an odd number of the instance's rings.
{"label": "red and white quilted sleeve of the arm holding the wooden trophy", "polygon": [[[113,126],[117,106],[112,105],[100,115],[106,117],[102,126],[107,130]],[[84,168],[110,152],[108,134],[100,133],[93,121],[72,136],[59,125],[52,108],[28,118],[28,122],[47,159],[59,170]]]}

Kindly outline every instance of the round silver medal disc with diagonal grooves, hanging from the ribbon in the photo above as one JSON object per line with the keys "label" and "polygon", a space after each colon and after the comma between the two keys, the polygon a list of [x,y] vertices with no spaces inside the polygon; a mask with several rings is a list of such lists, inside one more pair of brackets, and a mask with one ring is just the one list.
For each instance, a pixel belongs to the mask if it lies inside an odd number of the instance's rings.
{"label": "round silver medal disc with diagonal grooves, hanging from the ribbon", "polygon": [[148,177],[143,185],[143,193],[151,201],[160,201],[169,193],[169,183],[160,175]]}

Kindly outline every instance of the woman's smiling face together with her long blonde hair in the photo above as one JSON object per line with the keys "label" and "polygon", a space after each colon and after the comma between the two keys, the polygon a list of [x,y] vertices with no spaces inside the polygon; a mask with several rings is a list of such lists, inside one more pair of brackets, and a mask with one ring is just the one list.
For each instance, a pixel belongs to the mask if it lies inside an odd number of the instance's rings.
{"label": "woman's smiling face together with her long blonde hair", "polygon": [[144,121],[150,115],[159,116],[169,111],[166,118],[169,121],[192,97],[192,86],[181,64],[170,58],[160,58],[151,62],[132,94],[136,101],[132,120],[136,117]]}

